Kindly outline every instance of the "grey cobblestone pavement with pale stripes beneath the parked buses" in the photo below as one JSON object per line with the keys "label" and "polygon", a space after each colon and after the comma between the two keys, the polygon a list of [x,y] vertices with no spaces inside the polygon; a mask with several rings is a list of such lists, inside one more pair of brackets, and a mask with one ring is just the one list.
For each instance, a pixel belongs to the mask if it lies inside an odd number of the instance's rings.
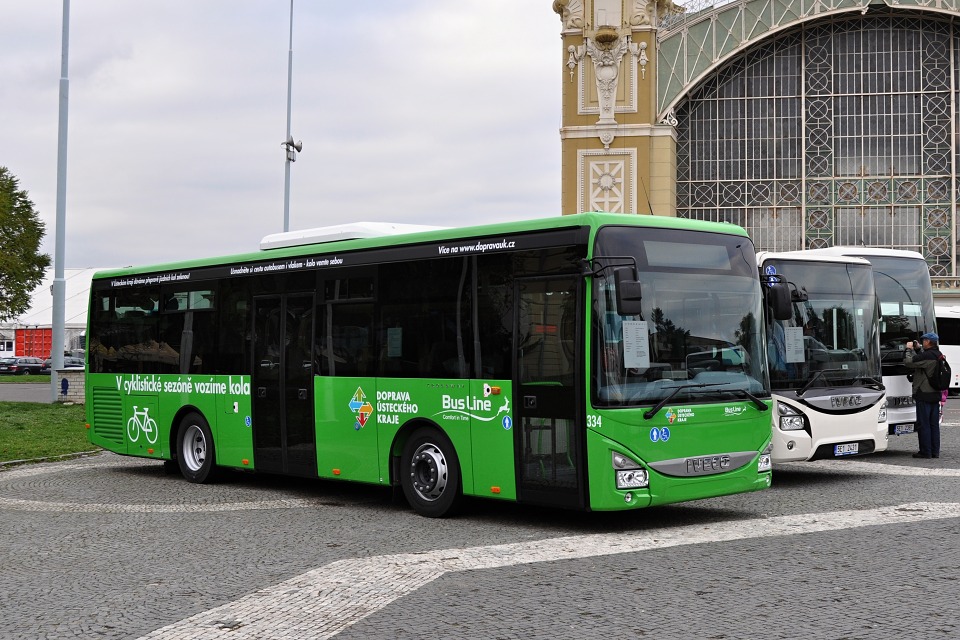
{"label": "grey cobblestone pavement with pale stripes beneath the parked buses", "polygon": [[941,638],[960,633],[960,427],[938,460],[777,467],[630,513],[103,454],[0,472],[0,638]]}

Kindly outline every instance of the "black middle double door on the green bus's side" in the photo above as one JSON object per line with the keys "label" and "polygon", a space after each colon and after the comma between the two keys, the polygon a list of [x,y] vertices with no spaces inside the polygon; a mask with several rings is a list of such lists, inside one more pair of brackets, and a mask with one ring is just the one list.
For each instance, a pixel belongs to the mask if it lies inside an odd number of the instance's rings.
{"label": "black middle double door on the green bus's side", "polygon": [[257,471],[317,475],[313,294],[254,299],[253,447]]}

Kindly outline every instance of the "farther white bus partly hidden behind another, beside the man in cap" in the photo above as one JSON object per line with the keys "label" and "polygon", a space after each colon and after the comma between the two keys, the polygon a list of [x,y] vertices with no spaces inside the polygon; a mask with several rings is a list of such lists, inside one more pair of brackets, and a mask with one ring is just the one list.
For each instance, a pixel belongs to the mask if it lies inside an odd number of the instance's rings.
{"label": "farther white bus partly hidden behind another, beside the man in cap", "polygon": [[903,366],[903,350],[908,340],[919,340],[924,333],[937,329],[930,271],[923,255],[871,247],[830,247],[811,253],[857,256],[873,265],[880,305],[880,358],[883,386],[887,390],[889,433],[913,433],[917,410]]}

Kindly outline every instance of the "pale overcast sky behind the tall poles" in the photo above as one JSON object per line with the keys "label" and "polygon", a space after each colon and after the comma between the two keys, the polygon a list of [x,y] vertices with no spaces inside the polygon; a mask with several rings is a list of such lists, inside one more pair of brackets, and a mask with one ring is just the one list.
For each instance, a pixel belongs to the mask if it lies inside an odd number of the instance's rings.
{"label": "pale overcast sky behind the tall poles", "polygon": [[[295,0],[291,230],[559,215],[551,0]],[[62,0],[0,0],[0,166],[54,254]],[[75,0],[66,267],[283,230],[289,0]]]}

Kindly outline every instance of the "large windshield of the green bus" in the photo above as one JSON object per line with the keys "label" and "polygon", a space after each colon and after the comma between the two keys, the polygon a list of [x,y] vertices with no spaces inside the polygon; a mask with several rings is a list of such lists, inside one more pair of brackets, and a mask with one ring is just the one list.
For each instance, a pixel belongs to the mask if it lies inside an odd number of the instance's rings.
{"label": "large windshield of the green bus", "polygon": [[[605,227],[594,265],[592,395],[597,406],[769,397],[750,240]],[[636,265],[642,313],[617,313],[614,268]]]}

